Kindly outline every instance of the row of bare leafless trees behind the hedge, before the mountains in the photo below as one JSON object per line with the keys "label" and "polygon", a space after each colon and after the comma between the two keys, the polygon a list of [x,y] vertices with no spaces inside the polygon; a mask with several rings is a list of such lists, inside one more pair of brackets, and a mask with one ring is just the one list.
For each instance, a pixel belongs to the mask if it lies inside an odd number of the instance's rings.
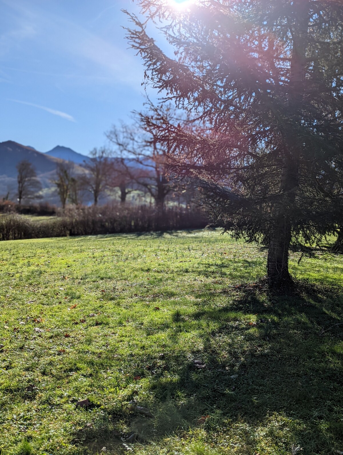
{"label": "row of bare leafless trees behind the hedge, before the mountains", "polygon": [[[154,201],[161,212],[167,200],[178,206],[195,204],[195,185],[185,186],[176,177],[167,150],[156,140],[153,131],[143,130],[137,121],[132,127],[113,126],[107,137],[110,147],[94,148],[82,165],[63,160],[57,163],[51,183],[62,209],[85,201],[92,201],[94,206],[101,199],[108,202],[116,188],[121,204],[134,191],[143,194],[145,200]],[[23,160],[18,163],[17,171],[18,204],[42,199],[41,182],[33,165]]]}

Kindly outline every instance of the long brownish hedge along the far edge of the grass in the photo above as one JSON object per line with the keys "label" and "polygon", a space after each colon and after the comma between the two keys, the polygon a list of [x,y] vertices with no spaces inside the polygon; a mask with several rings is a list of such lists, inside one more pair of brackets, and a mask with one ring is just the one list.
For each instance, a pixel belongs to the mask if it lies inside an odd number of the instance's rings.
{"label": "long brownish hedge along the far edge of the grass", "polygon": [[0,240],[168,231],[203,228],[207,223],[204,213],[183,208],[167,208],[161,213],[147,206],[80,207],[41,221],[18,214],[2,215]]}

